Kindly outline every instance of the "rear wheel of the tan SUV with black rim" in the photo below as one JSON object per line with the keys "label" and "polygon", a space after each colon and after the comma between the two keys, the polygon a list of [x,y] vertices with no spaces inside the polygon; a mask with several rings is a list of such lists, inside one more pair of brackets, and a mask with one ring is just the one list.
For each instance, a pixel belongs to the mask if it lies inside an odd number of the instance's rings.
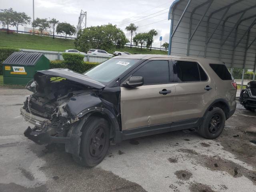
{"label": "rear wheel of the tan SUV with black rim", "polygon": [[204,117],[198,133],[207,139],[215,139],[222,133],[225,126],[226,116],[221,108],[213,107]]}

